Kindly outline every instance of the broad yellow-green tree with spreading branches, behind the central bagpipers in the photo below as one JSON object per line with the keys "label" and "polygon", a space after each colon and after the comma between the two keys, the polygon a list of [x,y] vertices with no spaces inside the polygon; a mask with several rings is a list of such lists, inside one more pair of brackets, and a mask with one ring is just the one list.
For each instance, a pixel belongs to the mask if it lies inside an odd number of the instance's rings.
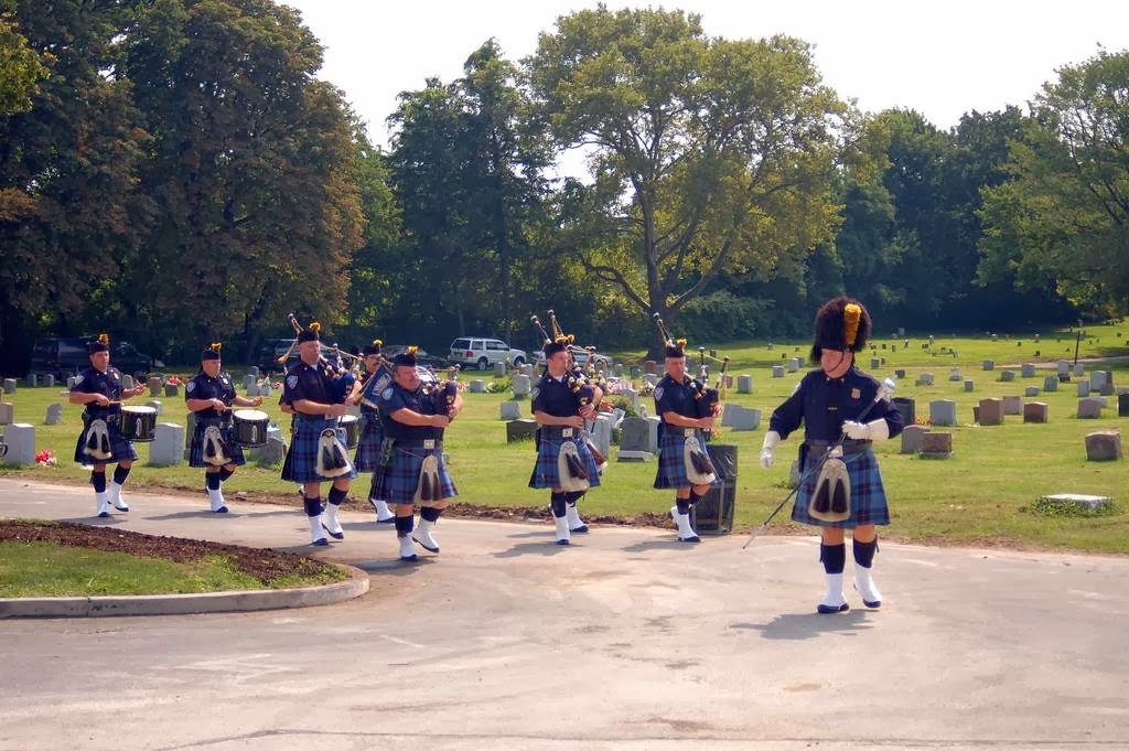
{"label": "broad yellow-green tree with spreading branches, behind the central bagpipers", "polygon": [[832,180],[855,116],[809,45],[708,38],[700,17],[599,6],[562,17],[525,61],[561,149],[587,146],[569,247],[668,322],[723,270],[798,279],[838,224]]}

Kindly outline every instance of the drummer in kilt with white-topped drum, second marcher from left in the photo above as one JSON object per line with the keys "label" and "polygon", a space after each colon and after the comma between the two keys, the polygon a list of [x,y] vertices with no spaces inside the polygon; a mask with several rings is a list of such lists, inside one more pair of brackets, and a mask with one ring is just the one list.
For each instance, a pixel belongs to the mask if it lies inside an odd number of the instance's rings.
{"label": "drummer in kilt with white-topped drum, second marcher from left", "polygon": [[246,464],[243,447],[235,442],[231,428],[231,405],[259,407],[262,396],[247,399],[235,393],[231,376],[224,372],[219,342],[212,343],[200,356],[200,373],[184,386],[184,401],[196,417],[189,449],[189,466],[204,469],[204,487],[211,509],[227,513],[221,484],[235,473],[236,466]]}

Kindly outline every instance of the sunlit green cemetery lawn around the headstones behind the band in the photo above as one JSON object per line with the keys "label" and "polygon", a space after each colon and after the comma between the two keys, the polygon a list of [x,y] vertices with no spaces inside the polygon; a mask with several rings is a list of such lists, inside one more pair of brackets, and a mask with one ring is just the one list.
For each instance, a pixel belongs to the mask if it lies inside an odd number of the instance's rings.
{"label": "sunlit green cemetery lawn around the headstones behind the band", "polygon": [[[1088,337],[1082,342],[1080,358],[1129,356],[1129,347],[1126,344],[1129,340],[1129,323],[1088,326],[1086,331]],[[933,347],[922,348],[930,333],[936,338]],[[929,401],[953,400],[956,403],[959,425],[943,428],[953,433],[954,453],[947,460],[901,455],[899,438],[877,447],[893,517],[892,525],[882,531],[885,539],[930,544],[1129,553],[1129,497],[1124,491],[1129,486],[1129,463],[1127,460],[1087,462],[1084,444],[1087,433],[1129,427],[1129,418],[1118,417],[1117,395],[1110,398],[1110,407],[1102,410],[1101,418],[1079,420],[1075,417],[1078,378],[1073,378],[1071,383],[1061,384],[1057,392],[1043,392],[1034,398],[1049,405],[1049,422],[1045,425],[1024,423],[1022,416],[1007,416],[1003,426],[995,427],[980,427],[972,421],[972,407],[980,399],[1022,396],[1026,386],[1042,388],[1044,376],[1056,373],[1054,364],[1058,359],[1073,361],[1073,333],[1065,330],[1044,331],[1039,343],[1033,341],[1033,333],[1012,339],[1005,339],[1000,334],[995,342],[986,335],[951,337],[940,331],[911,332],[907,338],[910,340],[908,347],[904,346],[904,339],[891,339],[889,333],[886,338],[876,335],[872,341],[874,351],[859,353],[859,367],[878,377],[892,376],[896,368],[905,369],[907,377],[899,382],[896,395],[914,399],[917,414],[922,419],[929,416]],[[734,387],[729,390],[727,401],[763,411],[756,430],[734,431],[723,428],[718,439],[718,443],[736,445],[738,451],[738,529],[759,525],[788,492],[789,464],[802,439],[802,430],[780,445],[777,463],[771,470],[760,468],[758,455],[768,429],[769,414],[791,393],[808,369],[805,365],[799,372],[788,373],[784,378],[772,378],[771,366],[786,363],[781,356],[805,357],[809,344],[806,340],[778,341],[772,350],[764,342],[717,346],[719,355],[732,358],[729,373],[734,376],[734,384],[738,375],[747,374],[753,377],[753,393],[737,394]],[[882,344],[886,344],[887,349],[881,349]],[[694,342],[691,342],[691,348],[693,346]],[[951,349],[956,350],[956,357],[949,353]],[[1039,356],[1035,356],[1035,350],[1040,351]],[[632,357],[638,359],[641,352],[627,353],[615,359],[630,363]],[[878,368],[870,368],[870,357],[885,357],[886,363]],[[995,359],[994,372],[982,369],[984,359]],[[1035,377],[1021,377],[1018,366],[1023,363],[1039,366]],[[1004,365],[1016,367],[1014,382],[1000,382],[1000,367]],[[960,368],[961,382],[948,381],[951,368]],[[1087,374],[1093,369],[1113,370],[1114,384],[1129,386],[1129,358],[1086,364]],[[716,374],[717,369],[714,372]],[[933,386],[913,385],[922,373],[935,375]],[[184,368],[182,374],[191,375],[191,372]],[[242,372],[233,369],[233,375],[237,383],[242,381]],[[491,375],[473,370],[461,376],[464,381],[478,377],[487,381],[492,378]],[[964,392],[963,378],[975,382],[974,392]],[[548,506],[548,494],[527,487],[534,460],[532,443],[506,444],[499,404],[507,399],[508,394],[464,393],[466,407],[448,429],[446,440],[450,471],[460,490],[457,500],[481,507],[541,509]],[[81,427],[81,408],[65,403],[65,396],[60,394],[59,388],[32,390],[20,386],[17,393],[6,396],[6,400],[15,403],[17,422],[32,422],[36,426],[37,448],[50,448],[58,457],[58,465],[2,469],[0,475],[54,482],[87,482],[89,472],[72,461],[75,442]],[[134,403],[146,401],[137,399]],[[184,425],[183,394],[160,401],[165,403],[165,412],[158,421]],[[289,419],[282,419],[277,401],[277,398],[272,398],[261,409],[270,413],[286,431]],[[47,405],[53,402],[64,404],[63,422],[45,426],[44,414]],[[644,399],[642,403],[648,410],[654,410],[653,400]],[[522,412],[530,417],[528,400],[522,403]],[[1129,435],[1123,439],[1129,443]],[[138,487],[184,489],[199,492],[201,507],[207,507],[202,470],[189,469],[183,464],[176,468],[148,466],[148,446],[135,445],[141,460],[133,465],[126,497],[130,488]],[[613,447],[603,484],[581,501],[584,515],[651,519],[662,517],[673,505],[673,494],[651,488],[656,463],[616,463],[615,451]],[[353,499],[362,499],[367,495],[368,482],[367,475],[355,482],[351,492]],[[229,499],[235,498],[240,490],[248,491],[252,499],[285,499],[290,504],[298,501],[296,487],[279,479],[278,466],[259,468],[251,464],[240,468],[225,486],[225,495]],[[1033,509],[1041,496],[1060,492],[1112,496],[1114,513],[1097,517],[1062,517],[1043,516]],[[90,503],[93,509],[93,498]],[[367,508],[364,501],[353,503],[353,508]],[[776,532],[812,532],[808,527],[787,522],[787,510],[781,512],[777,519],[772,527]]]}

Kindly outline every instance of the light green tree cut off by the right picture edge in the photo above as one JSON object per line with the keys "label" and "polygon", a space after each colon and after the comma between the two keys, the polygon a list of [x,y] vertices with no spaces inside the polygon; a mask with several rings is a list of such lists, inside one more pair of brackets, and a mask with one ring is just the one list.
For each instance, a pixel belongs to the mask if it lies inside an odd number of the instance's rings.
{"label": "light green tree cut off by the right picture edge", "polygon": [[1129,52],[1058,71],[1012,142],[1014,177],[984,191],[981,281],[1056,288],[1102,314],[1129,311]]}

